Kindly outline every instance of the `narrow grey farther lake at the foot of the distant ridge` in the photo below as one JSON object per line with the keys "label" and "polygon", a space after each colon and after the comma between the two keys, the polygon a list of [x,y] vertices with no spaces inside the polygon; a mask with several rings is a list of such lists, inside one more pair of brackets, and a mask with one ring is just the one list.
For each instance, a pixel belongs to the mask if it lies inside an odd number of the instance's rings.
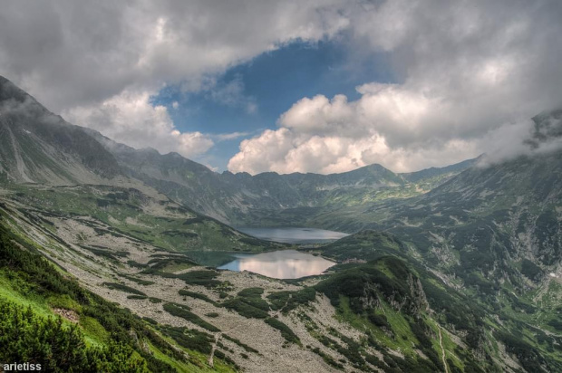
{"label": "narrow grey farther lake at the foot of the distant ridge", "polygon": [[284,244],[317,244],[339,240],[346,235],[342,232],[315,228],[237,228],[238,231],[267,241]]}

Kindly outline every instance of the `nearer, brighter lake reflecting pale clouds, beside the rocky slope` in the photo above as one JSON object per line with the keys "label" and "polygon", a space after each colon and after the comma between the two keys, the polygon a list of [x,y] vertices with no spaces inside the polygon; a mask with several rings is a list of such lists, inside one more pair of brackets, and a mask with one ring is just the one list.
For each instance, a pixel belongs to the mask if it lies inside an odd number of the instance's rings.
{"label": "nearer, brighter lake reflecting pale clouds, beside the rocky slope", "polygon": [[276,279],[297,279],[323,273],[335,263],[320,256],[282,250],[271,253],[235,254],[236,260],[221,265],[218,269],[249,271]]}

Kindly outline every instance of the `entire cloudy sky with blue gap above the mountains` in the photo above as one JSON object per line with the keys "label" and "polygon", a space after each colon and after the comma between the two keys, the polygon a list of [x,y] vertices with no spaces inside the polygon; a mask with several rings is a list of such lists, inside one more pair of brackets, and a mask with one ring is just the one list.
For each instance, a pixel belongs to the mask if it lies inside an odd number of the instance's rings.
{"label": "entire cloudy sky with blue gap above the mountains", "polygon": [[501,160],[540,150],[531,118],[562,108],[559,0],[0,5],[0,75],[218,172]]}

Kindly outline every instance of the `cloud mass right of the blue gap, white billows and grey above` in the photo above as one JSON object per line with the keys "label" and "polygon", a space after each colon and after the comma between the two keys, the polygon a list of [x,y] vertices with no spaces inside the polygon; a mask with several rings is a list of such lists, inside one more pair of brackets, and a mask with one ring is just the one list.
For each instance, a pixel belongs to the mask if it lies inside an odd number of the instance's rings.
{"label": "cloud mass right of the blue gap, white billows and grey above", "polygon": [[557,1],[362,3],[348,14],[356,49],[387,53],[399,83],[361,97],[297,101],[240,144],[233,172],[394,171],[487,152],[527,151],[535,114],[562,103],[562,4]]}

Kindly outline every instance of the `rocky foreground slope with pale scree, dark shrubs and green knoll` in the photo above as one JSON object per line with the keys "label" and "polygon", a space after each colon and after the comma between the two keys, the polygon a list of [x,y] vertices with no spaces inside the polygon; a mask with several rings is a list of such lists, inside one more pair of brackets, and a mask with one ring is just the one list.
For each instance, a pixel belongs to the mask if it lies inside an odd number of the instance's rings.
{"label": "rocky foreground slope with pale scree, dark shrubs and green knoll", "polygon": [[[338,247],[375,254],[369,263],[284,282],[200,267],[184,253],[114,231],[90,215],[26,206],[6,190],[0,212],[3,225],[25,244],[85,289],[143,318],[176,349],[199,356],[202,368],[215,360],[256,372],[559,368],[556,333],[470,300],[412,261],[392,235],[365,232],[317,247],[332,257]],[[3,283],[2,292],[19,293]],[[72,301],[47,305],[92,332],[90,318]],[[514,330],[526,337],[519,340]],[[193,350],[201,338],[208,347]]]}

